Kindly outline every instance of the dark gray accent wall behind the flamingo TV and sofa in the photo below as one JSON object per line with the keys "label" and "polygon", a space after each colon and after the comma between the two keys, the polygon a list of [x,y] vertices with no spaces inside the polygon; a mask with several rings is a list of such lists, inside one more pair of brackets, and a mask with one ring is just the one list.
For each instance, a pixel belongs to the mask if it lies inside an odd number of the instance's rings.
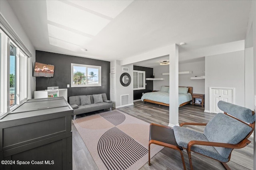
{"label": "dark gray accent wall behind the flamingo TV and sofa", "polygon": [[[36,62],[54,65],[54,77],[36,77],[36,90],[45,90],[48,86],[67,88],[69,96],[106,93],[110,94],[110,62],[71,55],[36,51]],[[71,87],[71,63],[101,66],[101,86],[98,87]]]}

